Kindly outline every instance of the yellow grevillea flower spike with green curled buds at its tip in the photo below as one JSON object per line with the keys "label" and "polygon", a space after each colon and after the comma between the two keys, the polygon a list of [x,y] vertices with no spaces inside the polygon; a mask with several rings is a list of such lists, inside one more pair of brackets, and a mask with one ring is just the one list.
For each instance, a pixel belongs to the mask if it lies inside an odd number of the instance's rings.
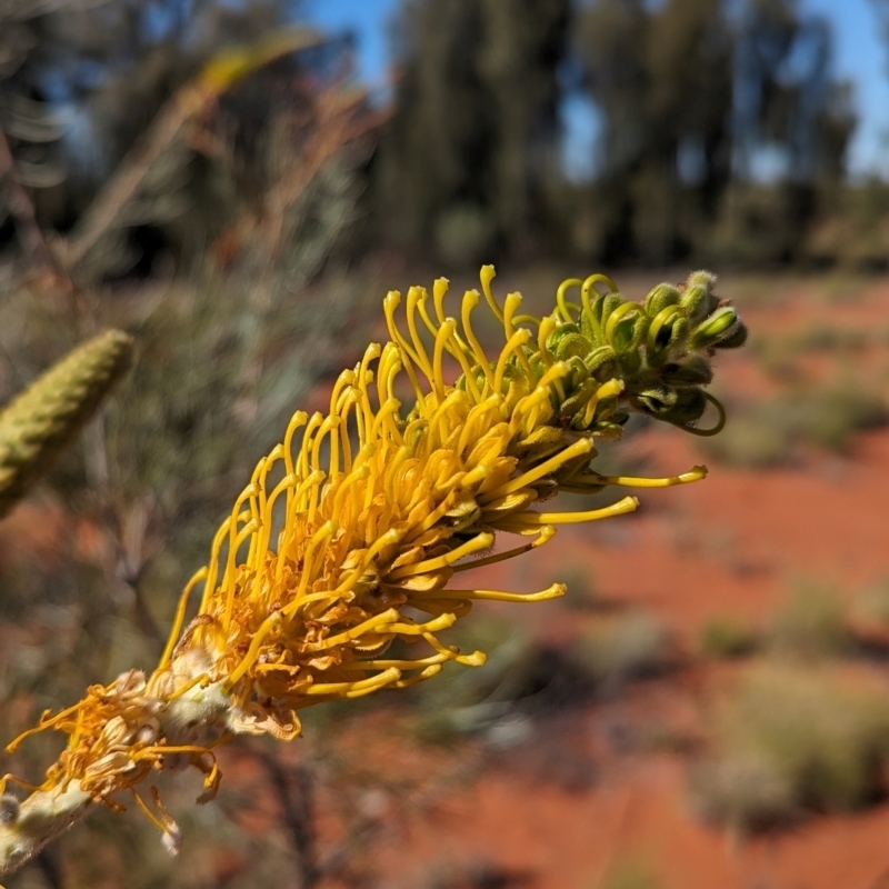
{"label": "yellow grevillea flower spike with green curled buds at its tip", "polygon": [[[559,512],[538,509],[542,501],[705,476],[695,467],[672,478],[608,477],[590,463],[596,439],[619,437],[630,410],[698,433],[721,427],[717,404],[717,427],[697,429],[715,401],[701,387],[713,350],[741,344],[746,331],[715,297],[712,276],[662,284],[643,303],[603,276],[571,279],[542,319],[520,313],[518,293],[500,306],[492,278],[483,267],[481,292],[465,294],[459,319],[446,314],[444,279],[431,297],[411,288],[403,311],[390,292],[389,341],[340,374],[327,414],[296,413],[259,461],[183,590],[157,670],[93,686],[9,746],[50,728],[68,737],[46,781],[0,825],[0,872],[90,803],[121,808],[128,795],[174,847],[178,829],[157,790],[150,803],[139,790],[152,772],[184,757],[206,776],[206,801],[219,783],[213,749],[232,733],[290,740],[311,705],[404,688],[448,661],[483,663],[482,652],[439,635],[477,600],[541,601],[565,587],[477,589],[463,572],[541,546],[559,525],[638,503]],[[481,301],[502,329],[491,354],[473,327]],[[519,545],[496,551],[498,532]]]}

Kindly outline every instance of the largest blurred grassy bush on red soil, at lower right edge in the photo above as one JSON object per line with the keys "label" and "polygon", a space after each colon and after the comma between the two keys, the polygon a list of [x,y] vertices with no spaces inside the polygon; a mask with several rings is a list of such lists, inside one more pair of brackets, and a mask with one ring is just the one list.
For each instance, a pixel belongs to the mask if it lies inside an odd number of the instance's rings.
{"label": "largest blurred grassy bush on red soil, at lower right edge", "polygon": [[740,830],[847,811],[883,790],[889,701],[825,670],[759,667],[722,715],[718,753],[692,772],[698,811]]}

